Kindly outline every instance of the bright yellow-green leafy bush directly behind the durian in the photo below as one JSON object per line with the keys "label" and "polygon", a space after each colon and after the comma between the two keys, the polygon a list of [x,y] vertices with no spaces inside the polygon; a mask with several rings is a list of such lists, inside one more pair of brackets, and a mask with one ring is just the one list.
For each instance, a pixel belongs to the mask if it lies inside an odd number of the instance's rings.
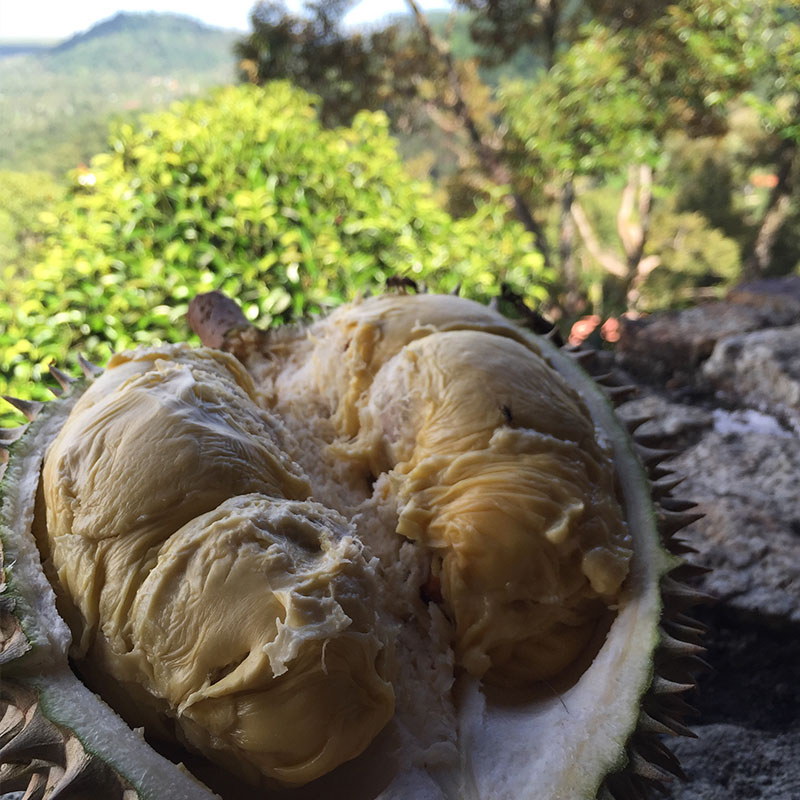
{"label": "bright yellow-green leafy bush directly behind the durian", "polygon": [[229,87],[120,125],[76,172],[37,263],[0,287],[3,391],[68,353],[185,340],[187,304],[221,289],[261,323],[379,290],[392,275],[486,299],[546,297],[530,236],[490,199],[454,220],[407,174],[381,113],[324,129],[287,83]]}

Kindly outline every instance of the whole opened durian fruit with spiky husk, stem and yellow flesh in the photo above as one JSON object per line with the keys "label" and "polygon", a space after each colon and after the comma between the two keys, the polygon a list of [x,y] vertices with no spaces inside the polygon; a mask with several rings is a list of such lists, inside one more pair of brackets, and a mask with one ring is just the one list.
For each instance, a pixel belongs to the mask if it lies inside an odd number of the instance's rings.
{"label": "whole opened durian fruit with spiky husk, stem and yellow flesh", "polygon": [[202,348],[12,400],[0,791],[627,800],[681,775],[696,517],[625,387],[451,296],[191,315]]}

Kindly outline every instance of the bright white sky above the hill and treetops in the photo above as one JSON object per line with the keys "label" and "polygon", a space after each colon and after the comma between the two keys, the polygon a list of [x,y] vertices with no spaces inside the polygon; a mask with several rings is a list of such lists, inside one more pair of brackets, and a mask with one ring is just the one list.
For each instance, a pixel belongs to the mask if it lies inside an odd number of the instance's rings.
{"label": "bright white sky above the hill and treetops", "polygon": [[[249,30],[255,0],[0,0],[0,40],[66,39],[118,11],[171,11],[209,25]],[[287,5],[297,9],[300,0]],[[422,0],[423,8],[446,8],[450,0]],[[405,0],[362,0],[347,22],[372,22],[385,14],[407,11]]]}

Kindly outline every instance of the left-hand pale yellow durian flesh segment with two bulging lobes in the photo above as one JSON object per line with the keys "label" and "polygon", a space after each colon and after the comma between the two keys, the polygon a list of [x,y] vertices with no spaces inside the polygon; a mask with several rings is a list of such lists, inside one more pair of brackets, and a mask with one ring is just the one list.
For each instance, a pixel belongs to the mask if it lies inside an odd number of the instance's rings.
{"label": "left-hand pale yellow durian flesh segment with two bulging lobes", "polygon": [[391,717],[391,652],[373,567],[252,397],[220,352],[115,357],[47,453],[49,551],[79,659],[234,772],[305,783]]}

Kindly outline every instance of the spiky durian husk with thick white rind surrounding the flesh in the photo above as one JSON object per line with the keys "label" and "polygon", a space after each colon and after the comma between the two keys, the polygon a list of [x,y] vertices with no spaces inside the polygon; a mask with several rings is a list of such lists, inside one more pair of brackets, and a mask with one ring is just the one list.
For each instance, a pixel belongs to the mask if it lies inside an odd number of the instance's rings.
{"label": "spiky durian husk with thick white rind surrounding the flesh", "polygon": [[[238,330],[227,343],[223,336],[220,344],[234,349],[240,335]],[[517,703],[512,713],[528,721],[517,726],[511,746],[503,721],[505,699],[486,699],[475,685],[461,688],[460,739],[465,772],[472,778],[462,778],[458,789],[445,786],[445,793],[475,800],[646,798],[665,782],[684,777],[665,737],[693,735],[684,723],[691,708],[682,697],[705,664],[703,629],[687,610],[705,598],[691,588],[697,569],[686,560],[691,548],[680,531],[698,517],[689,510],[691,503],[673,495],[680,478],[662,462],[674,453],[637,442],[635,431],[644,419],[630,421],[627,430],[614,414],[614,404],[632,387],[615,385],[609,375],[591,378],[591,351],[560,348],[556,333],[537,340],[612,443],[634,532],[632,574],[605,642],[583,676],[565,675],[545,687],[544,697]],[[0,791],[22,791],[26,800],[207,800],[215,795],[182,765],[156,753],[141,731],[129,728],[86,688],[69,662],[69,630],[45,577],[34,517],[45,450],[99,372],[83,359],[79,363],[84,377],[77,381],[51,369],[58,383],[55,401],[10,399],[30,422],[0,432],[0,470],[6,472],[0,497]],[[626,676],[622,684],[611,677],[620,669]],[[488,718],[476,711],[476,703],[488,703]],[[615,709],[613,724],[606,725],[604,704]],[[567,731],[561,739],[559,730]],[[358,775],[371,755],[368,750],[345,765],[347,774]],[[507,792],[492,783],[504,769],[520,773]],[[331,796],[314,792],[309,787],[303,796]],[[379,793],[380,788],[367,789],[363,796]],[[387,796],[411,800],[402,790]]]}

